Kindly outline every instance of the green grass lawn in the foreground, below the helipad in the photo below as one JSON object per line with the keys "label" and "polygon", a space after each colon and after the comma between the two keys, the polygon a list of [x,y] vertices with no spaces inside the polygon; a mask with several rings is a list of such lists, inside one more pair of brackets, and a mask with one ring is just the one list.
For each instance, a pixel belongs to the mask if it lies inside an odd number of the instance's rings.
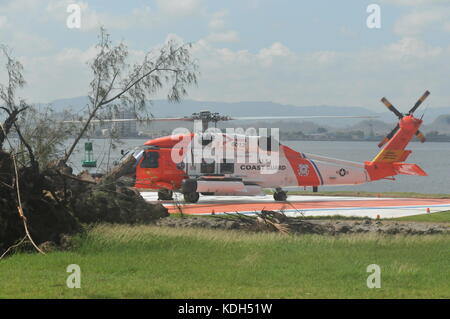
{"label": "green grass lawn in the foreground, below the helipad", "polygon": [[[0,261],[2,298],[449,298],[450,236],[248,234],[99,225],[70,252]],[[81,289],[66,267],[81,267]],[[381,267],[369,289],[366,267]]]}

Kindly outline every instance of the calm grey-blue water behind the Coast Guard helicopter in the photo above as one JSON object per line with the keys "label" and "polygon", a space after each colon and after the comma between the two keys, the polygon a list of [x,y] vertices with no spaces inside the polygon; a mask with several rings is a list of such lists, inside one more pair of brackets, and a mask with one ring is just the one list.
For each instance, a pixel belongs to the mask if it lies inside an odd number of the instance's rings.
{"label": "calm grey-blue water behind the Coast Guard helicopter", "polygon": [[[84,157],[84,142],[79,143],[78,151],[71,158],[75,172],[81,171]],[[107,168],[109,150],[108,139],[93,139],[94,156],[98,168],[91,172],[104,172]],[[115,150],[111,149],[109,167],[121,158],[121,149],[132,149],[145,143],[144,139],[122,140]],[[371,160],[378,153],[376,142],[341,142],[341,141],[286,141],[285,145],[305,153],[313,153],[355,162]],[[412,150],[407,162],[418,164],[429,176],[396,176],[395,181],[381,180],[363,185],[321,187],[321,190],[349,190],[369,192],[418,192],[450,193],[450,143],[426,142],[411,143]]]}

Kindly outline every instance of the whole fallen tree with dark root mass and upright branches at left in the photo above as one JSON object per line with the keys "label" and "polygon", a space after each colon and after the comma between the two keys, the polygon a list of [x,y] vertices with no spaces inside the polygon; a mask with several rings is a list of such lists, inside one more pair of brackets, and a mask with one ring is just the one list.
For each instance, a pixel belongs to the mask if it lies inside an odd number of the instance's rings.
{"label": "whole fallen tree with dark root mass and upright branches at left", "polygon": [[126,46],[113,46],[102,28],[90,64],[88,114],[61,154],[58,146],[76,125],[55,124],[51,114],[39,113],[17,98],[17,90],[25,85],[23,67],[1,47],[8,82],[0,84],[0,110],[6,114],[0,123],[0,257],[24,243],[43,253],[46,243],[60,245],[67,235],[81,232],[82,223],[152,223],[168,215],[162,205],[145,202],[121,180],[130,172],[132,157],[100,180],[75,176],[67,163],[92,121],[110,115],[111,109],[129,107],[136,117],[148,114],[146,101],[164,85],[169,86],[168,99],[180,101],[186,86],[196,84],[197,65],[188,48],[170,40],[130,67]]}

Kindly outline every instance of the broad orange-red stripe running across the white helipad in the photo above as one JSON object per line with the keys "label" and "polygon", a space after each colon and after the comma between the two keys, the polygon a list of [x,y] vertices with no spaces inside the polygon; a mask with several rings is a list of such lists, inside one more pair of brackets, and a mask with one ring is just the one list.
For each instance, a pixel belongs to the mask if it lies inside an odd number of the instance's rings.
{"label": "broad orange-red stripe running across the white helipad", "polygon": [[[170,213],[179,213],[179,209],[172,203],[163,203]],[[293,201],[289,203],[199,203],[181,204],[183,214],[211,214],[251,212],[265,210],[287,210],[299,211],[310,209],[345,209],[345,208],[374,208],[374,207],[414,207],[414,206],[450,205],[448,199],[377,199],[377,200],[335,200],[335,201]]]}

